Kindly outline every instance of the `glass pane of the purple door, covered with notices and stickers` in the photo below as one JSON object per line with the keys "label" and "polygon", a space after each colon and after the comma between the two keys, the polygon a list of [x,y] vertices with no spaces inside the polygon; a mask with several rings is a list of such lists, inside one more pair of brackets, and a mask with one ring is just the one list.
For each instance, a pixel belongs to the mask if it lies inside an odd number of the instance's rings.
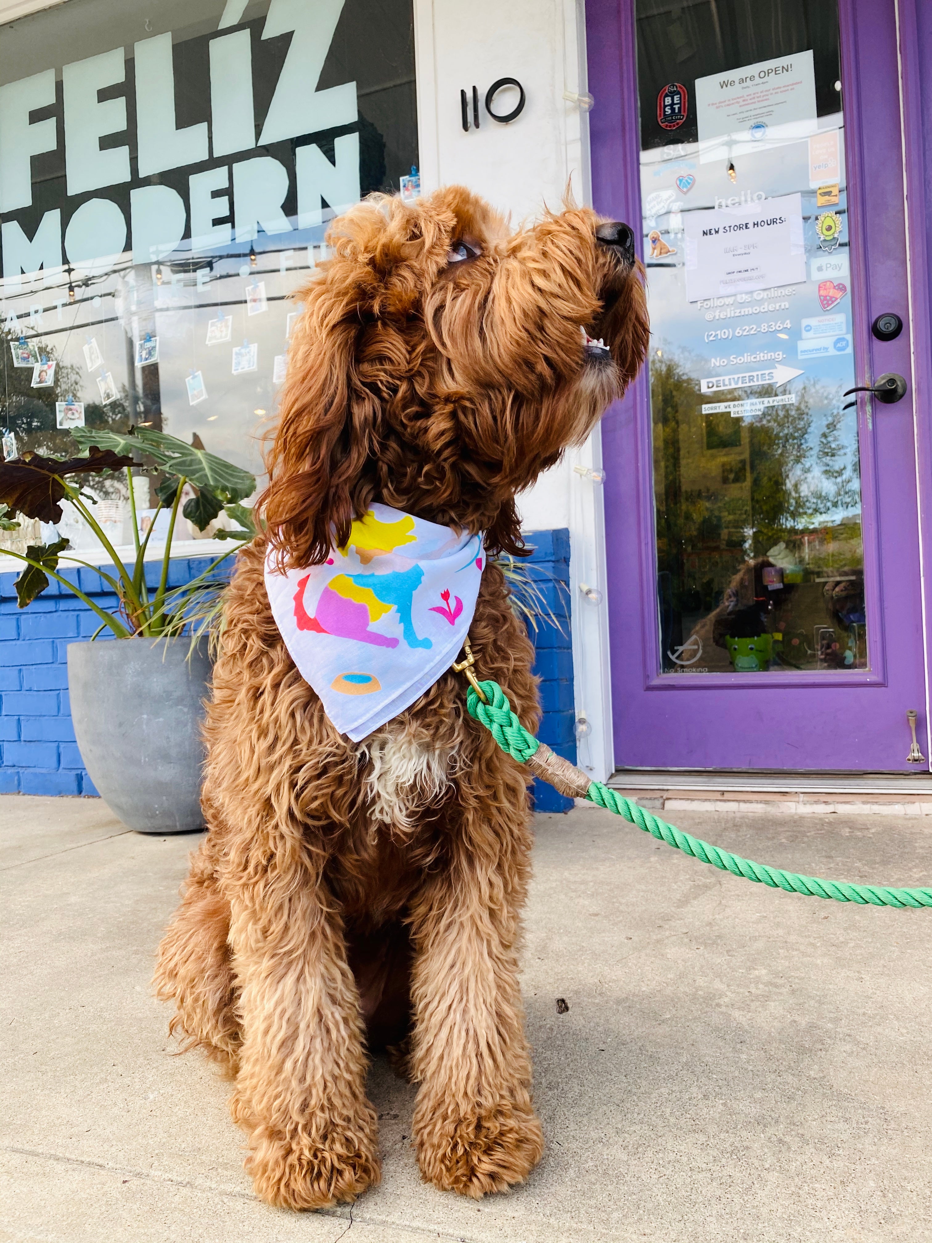
{"label": "glass pane of the purple door, covered with notices and stickers", "polygon": [[637,0],[664,674],[867,666],[834,0]]}

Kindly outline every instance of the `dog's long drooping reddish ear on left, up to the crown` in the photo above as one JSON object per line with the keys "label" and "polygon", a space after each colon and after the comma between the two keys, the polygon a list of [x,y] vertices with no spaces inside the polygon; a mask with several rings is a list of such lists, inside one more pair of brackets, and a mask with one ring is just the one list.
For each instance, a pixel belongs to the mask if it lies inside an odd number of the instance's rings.
{"label": "dog's long drooping reddish ear on left, up to the crown", "polygon": [[333,257],[301,295],[266,457],[260,505],[282,567],[326,562],[372,503],[381,414],[374,359],[385,353],[378,334],[419,305],[418,272],[435,275],[454,224],[449,213],[372,196],[332,225]]}

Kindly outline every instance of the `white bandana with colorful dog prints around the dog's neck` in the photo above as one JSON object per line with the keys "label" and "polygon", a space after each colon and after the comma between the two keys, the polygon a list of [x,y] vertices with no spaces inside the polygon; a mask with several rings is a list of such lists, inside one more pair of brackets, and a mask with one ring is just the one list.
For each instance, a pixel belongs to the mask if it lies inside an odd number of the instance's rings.
{"label": "white bandana with colorful dog prints around the dog's neck", "polygon": [[340,733],[354,742],[404,712],[446,672],[476,610],[481,536],[386,505],[353,523],[324,566],[266,590],[285,646]]}

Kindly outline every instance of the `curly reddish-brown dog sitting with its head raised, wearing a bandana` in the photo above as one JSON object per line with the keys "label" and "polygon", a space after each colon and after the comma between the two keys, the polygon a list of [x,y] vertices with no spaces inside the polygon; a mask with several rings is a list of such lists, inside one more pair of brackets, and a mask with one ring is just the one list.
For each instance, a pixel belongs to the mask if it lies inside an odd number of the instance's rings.
{"label": "curly reddish-brown dog sitting with its head raised, wearing a bandana", "polygon": [[[644,359],[625,225],[572,208],[511,232],[468,191],[370,199],[303,290],[261,500],[285,567],[321,564],[377,501],[521,554],[514,496],[582,441]],[[600,339],[599,339],[600,338]],[[603,344],[604,342],[604,344]],[[529,871],[524,774],[446,672],[362,743],[337,732],[239,558],[208,710],[204,812],[159,950],[173,1029],[222,1062],[247,1168],[273,1204],[379,1180],[369,1045],[410,1034],[424,1177],[503,1191],[541,1157],[518,987]],[[533,650],[491,562],[480,676],[528,728]]]}

